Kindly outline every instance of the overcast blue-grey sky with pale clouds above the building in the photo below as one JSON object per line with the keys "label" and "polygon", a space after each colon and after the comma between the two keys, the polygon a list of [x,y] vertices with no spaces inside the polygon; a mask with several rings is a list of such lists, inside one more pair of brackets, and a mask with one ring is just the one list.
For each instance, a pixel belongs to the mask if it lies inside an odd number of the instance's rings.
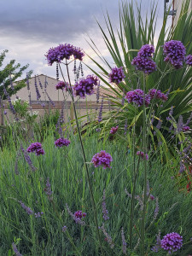
{"label": "overcast blue-grey sky with pale clouds above the building", "polygon": [[[149,2],[142,0],[143,14],[149,11]],[[55,78],[55,66],[49,67],[44,55],[50,47],[61,43],[73,44],[94,56],[86,43],[87,35],[102,55],[112,61],[96,20],[106,31],[102,11],[108,10],[114,27],[118,27],[119,0],[0,0],[0,3],[0,51],[9,50],[7,61],[29,63],[33,75],[44,73]],[[161,26],[164,0],[158,4]],[[84,61],[94,67],[88,58]]]}

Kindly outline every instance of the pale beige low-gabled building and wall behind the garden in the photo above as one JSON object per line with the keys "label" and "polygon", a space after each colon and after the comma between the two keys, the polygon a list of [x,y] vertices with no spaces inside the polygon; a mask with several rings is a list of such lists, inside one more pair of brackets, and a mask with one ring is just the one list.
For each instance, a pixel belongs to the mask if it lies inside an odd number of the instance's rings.
{"label": "pale beige low-gabled building and wall behind the garden", "polygon": [[[55,84],[58,84],[58,80],[45,76],[44,74],[34,76],[28,79],[29,84],[19,90],[16,96],[22,101],[28,100],[31,102],[32,111],[38,111],[38,119],[44,116],[44,113],[50,112],[51,109],[64,108],[64,119],[74,119],[73,102],[69,93],[66,90],[55,90]],[[15,82],[16,83],[16,82]],[[40,98],[37,98],[37,88],[40,94]],[[109,109],[108,96],[105,96],[106,90],[100,88],[100,96],[104,96],[103,108]],[[113,92],[108,92],[108,95],[113,96]],[[16,96],[11,96],[11,100],[15,100]],[[64,102],[62,104],[62,102]],[[4,101],[6,117],[3,112],[0,113],[0,125],[4,124],[6,118],[9,120],[14,119],[14,115],[9,110],[8,101]],[[79,117],[86,116],[87,113],[98,114],[98,110],[101,105],[100,102],[96,102],[96,91],[93,95],[86,96],[84,99],[75,97],[75,107]],[[97,111],[96,111],[97,110]]]}

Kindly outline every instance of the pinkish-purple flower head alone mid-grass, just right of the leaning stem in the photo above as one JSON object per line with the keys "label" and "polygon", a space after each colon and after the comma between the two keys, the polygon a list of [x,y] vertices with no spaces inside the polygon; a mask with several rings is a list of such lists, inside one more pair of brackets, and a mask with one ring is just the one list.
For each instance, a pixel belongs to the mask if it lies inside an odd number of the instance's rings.
{"label": "pinkish-purple flower head alone mid-grass, just right of the leaning stem", "polygon": [[110,163],[113,161],[113,158],[110,154],[106,153],[105,150],[102,150],[100,153],[94,154],[91,162],[95,167],[102,166],[103,169],[111,168]]}

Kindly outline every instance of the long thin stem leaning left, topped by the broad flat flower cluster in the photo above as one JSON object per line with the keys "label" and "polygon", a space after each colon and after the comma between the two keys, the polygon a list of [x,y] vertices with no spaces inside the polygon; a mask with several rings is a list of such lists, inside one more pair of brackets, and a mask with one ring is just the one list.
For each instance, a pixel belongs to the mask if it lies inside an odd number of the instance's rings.
{"label": "long thin stem leaning left, topped by the broad flat flower cluster", "polygon": [[[60,66],[60,64],[59,64],[59,66]],[[73,91],[67,63],[66,63],[66,67],[67,67],[67,77],[68,77],[70,90]],[[61,69],[61,67],[60,67],[60,69]],[[64,78],[63,74],[62,74],[62,77]],[[80,145],[81,145],[81,149],[82,149],[82,153],[83,153],[83,157],[84,157],[84,166],[85,166],[87,179],[88,179],[88,183],[89,183],[89,188],[90,188],[90,198],[91,198],[92,208],[93,208],[93,212],[94,212],[94,219],[95,219],[95,224],[96,224],[96,234],[97,234],[98,239],[99,239],[102,256],[104,256],[104,253],[103,253],[103,250],[102,250],[102,239],[101,239],[101,236],[100,236],[100,233],[99,233],[99,226],[98,226],[98,221],[97,221],[96,202],[94,200],[93,190],[92,190],[91,183],[90,183],[90,174],[89,174],[89,170],[88,170],[88,166],[87,166],[87,160],[86,160],[85,153],[84,153],[84,145],[83,145],[83,141],[82,141],[82,137],[81,137],[81,133],[80,133],[80,129],[79,129],[79,121],[78,121],[77,111],[76,111],[76,107],[75,107],[73,92],[71,93],[71,97],[72,97],[72,101],[73,101],[75,121],[76,121],[77,129],[78,129],[78,133],[79,133]]]}

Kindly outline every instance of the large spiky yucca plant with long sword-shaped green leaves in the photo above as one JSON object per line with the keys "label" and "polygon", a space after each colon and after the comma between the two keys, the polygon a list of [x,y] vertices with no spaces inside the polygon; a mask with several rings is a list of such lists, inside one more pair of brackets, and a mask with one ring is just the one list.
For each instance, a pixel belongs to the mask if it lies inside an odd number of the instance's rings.
{"label": "large spiky yucca plant with long sword-shaped green leaves", "polygon": [[[102,61],[101,64],[90,56],[90,59],[94,61],[100,71],[96,72],[90,69],[92,72],[96,73],[102,80],[102,83],[107,85],[102,86],[105,90],[105,95],[108,96],[109,100],[113,102],[113,105],[120,110],[117,111],[117,109],[115,109],[104,114],[100,126],[104,127],[105,131],[109,131],[114,123],[118,123],[119,128],[123,131],[125,122],[127,122],[130,129],[134,126],[134,132],[136,132],[137,135],[140,134],[140,127],[143,120],[143,108],[135,108],[126,101],[122,103],[122,98],[125,96],[125,93],[130,90],[143,88],[143,74],[135,72],[135,67],[131,65],[131,61],[137,55],[137,51],[141,49],[143,44],[154,44],[154,34],[156,32],[157,23],[156,9],[157,6],[154,3],[150,10],[150,16],[148,17],[148,15],[146,15],[146,18],[143,19],[141,15],[141,5],[137,6],[135,10],[132,2],[122,3],[119,8],[119,29],[117,32],[113,30],[108,13],[105,17],[108,35],[97,21],[114,64],[112,66],[111,63],[102,57],[100,50],[90,39],[91,48]],[[164,61],[165,56],[163,55],[162,45],[165,44],[166,41],[178,40],[185,46],[186,55],[192,54],[192,12],[188,10],[189,0],[183,3],[177,25],[168,27],[168,29],[166,29],[167,15],[165,16],[159,38],[156,45],[154,45],[154,61],[157,64],[157,70],[146,77],[146,90],[155,88],[160,89],[164,93],[169,93],[168,100],[162,105],[160,103],[154,103],[154,124],[149,125],[149,141],[154,145],[154,148],[156,148],[157,143],[163,143],[161,149],[164,151],[166,159],[169,159],[169,153],[175,154],[176,152],[175,148],[172,148],[172,145],[175,144],[175,138],[177,138],[178,141],[182,141],[185,136],[183,132],[181,132],[179,137],[176,136],[172,139],[172,132],[169,132],[169,129],[172,124],[177,125],[179,116],[183,116],[183,122],[189,119],[192,110],[192,68],[186,66],[180,69],[172,68],[169,63],[167,64],[167,62]],[[123,67],[125,82],[119,84],[109,83],[108,73],[111,72],[114,66]],[[113,96],[108,93],[109,91],[113,91]],[[172,120],[167,121],[166,117],[172,107]],[[151,112],[150,109],[147,110],[148,121],[153,116]],[[160,130],[155,128],[159,119],[162,120]],[[190,121],[189,125],[191,124]],[[188,134],[190,134],[190,131]],[[140,140],[138,140],[138,143],[139,141]]]}

